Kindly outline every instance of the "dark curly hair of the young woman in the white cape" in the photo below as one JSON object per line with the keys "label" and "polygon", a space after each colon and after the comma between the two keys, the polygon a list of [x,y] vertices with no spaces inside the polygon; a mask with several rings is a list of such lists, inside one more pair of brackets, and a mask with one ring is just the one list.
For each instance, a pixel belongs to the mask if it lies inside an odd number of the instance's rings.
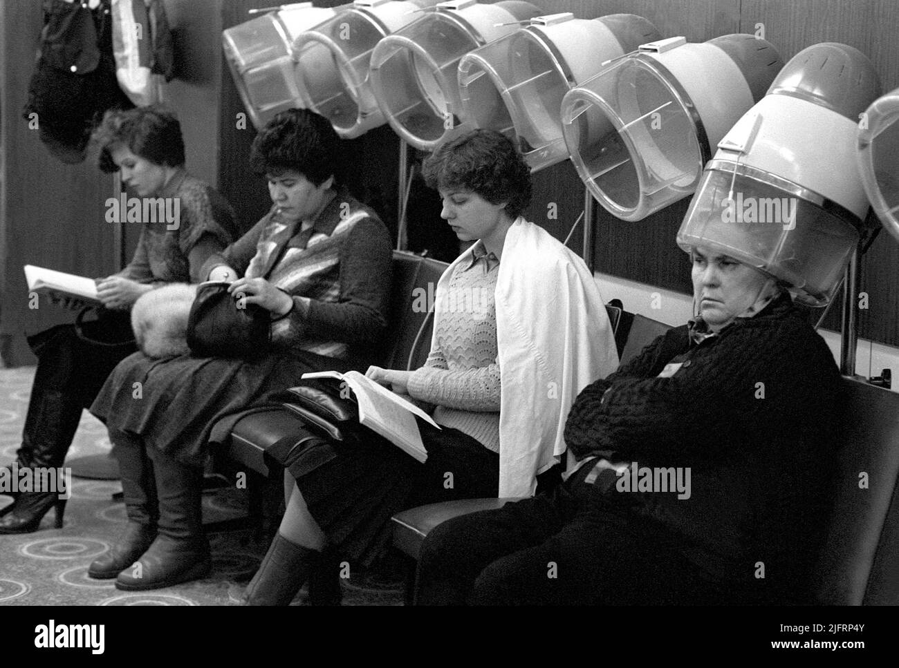
{"label": "dark curly hair of the young woman in the white cape", "polygon": [[495,130],[477,129],[441,145],[423,163],[433,189],[472,190],[491,204],[505,202],[517,218],[530,203],[530,169],[512,140]]}

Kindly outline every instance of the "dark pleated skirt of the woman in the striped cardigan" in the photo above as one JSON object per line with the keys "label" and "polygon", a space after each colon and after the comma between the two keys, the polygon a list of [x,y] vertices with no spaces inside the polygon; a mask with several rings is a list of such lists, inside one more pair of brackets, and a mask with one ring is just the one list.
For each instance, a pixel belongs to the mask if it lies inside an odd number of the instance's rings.
{"label": "dark pleated skirt of the woman in the striped cardigan", "polygon": [[345,371],[343,360],[295,352],[260,359],[135,353],[120,362],[91,412],[111,430],[141,436],[183,464],[202,467],[219,419],[266,403],[313,371]]}

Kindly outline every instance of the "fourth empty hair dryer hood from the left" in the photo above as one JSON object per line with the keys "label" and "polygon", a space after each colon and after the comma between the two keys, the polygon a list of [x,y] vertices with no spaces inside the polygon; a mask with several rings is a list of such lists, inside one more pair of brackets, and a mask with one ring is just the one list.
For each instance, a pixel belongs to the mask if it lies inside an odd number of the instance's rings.
{"label": "fourth empty hair dryer hood from the left", "polygon": [[589,80],[605,61],[660,37],[652,23],[634,14],[535,17],[459,61],[464,118],[516,139],[531,171],[560,163],[568,159],[559,119],[565,93]]}

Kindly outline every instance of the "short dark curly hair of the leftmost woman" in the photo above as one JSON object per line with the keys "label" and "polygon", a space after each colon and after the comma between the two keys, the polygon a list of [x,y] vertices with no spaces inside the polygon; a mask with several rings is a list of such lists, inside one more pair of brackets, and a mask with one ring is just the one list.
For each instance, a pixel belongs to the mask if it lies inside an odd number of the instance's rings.
{"label": "short dark curly hair of the leftmost woman", "polygon": [[184,164],[181,123],[172,110],[160,104],[107,111],[91,139],[100,146],[102,171],[119,171],[110,153],[115,145],[127,146],[131,153],[151,163],[170,167]]}

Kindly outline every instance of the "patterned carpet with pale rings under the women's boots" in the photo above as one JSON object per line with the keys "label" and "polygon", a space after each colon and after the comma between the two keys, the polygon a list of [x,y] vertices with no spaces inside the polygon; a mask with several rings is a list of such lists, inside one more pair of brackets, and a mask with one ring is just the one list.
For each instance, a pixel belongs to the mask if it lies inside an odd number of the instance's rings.
{"label": "patterned carpet with pale rings under the women's boots", "polygon": [[[0,369],[0,463],[4,465],[13,461],[21,444],[33,374],[33,367]],[[110,449],[106,428],[85,411],[67,463]],[[209,536],[213,555],[209,577],[152,592],[121,592],[110,580],[87,577],[88,565],[110,549],[125,521],[125,506],[111,498],[121,486],[116,481],[77,478],[72,483],[62,529],[53,528],[51,510],[37,532],[0,535],[0,605],[236,605],[268,548],[254,541],[249,531],[213,534]],[[9,502],[10,497],[0,496],[0,507]],[[207,492],[203,520],[240,517],[245,504],[242,490]],[[400,571],[395,559],[369,572],[351,569],[351,576],[342,581],[343,605],[402,604]],[[306,602],[304,590],[293,604]]]}

